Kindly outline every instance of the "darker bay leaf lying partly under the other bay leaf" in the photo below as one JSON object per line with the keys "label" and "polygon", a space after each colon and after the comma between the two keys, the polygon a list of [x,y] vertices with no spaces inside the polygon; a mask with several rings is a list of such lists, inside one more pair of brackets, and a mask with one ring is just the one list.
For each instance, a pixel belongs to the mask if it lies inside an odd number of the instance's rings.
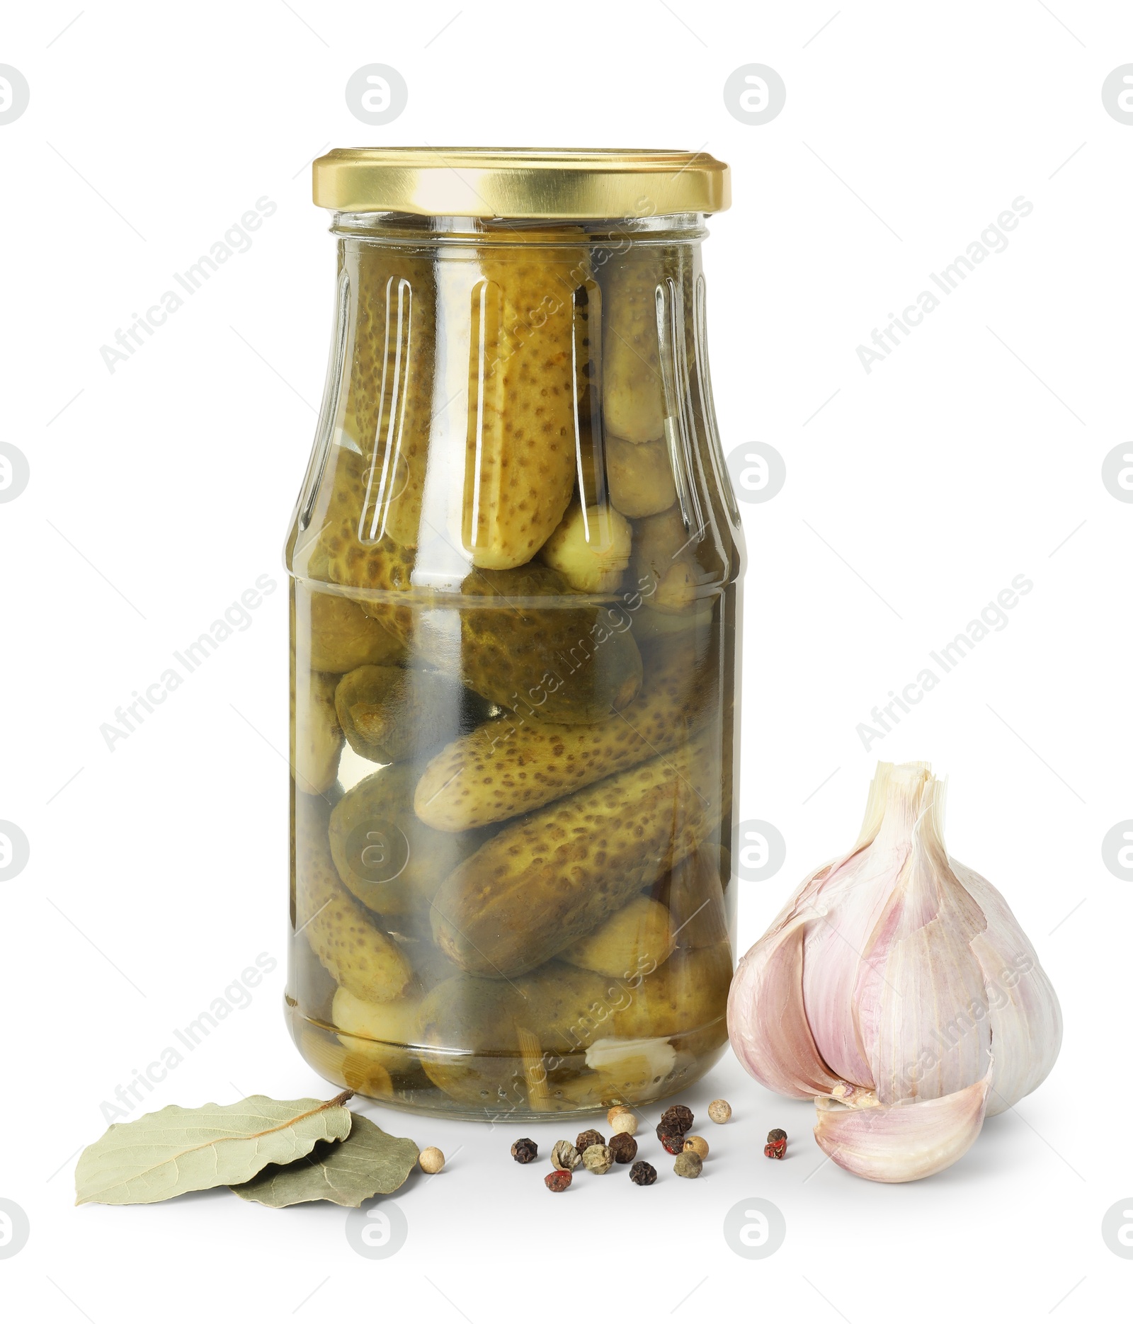
{"label": "darker bay leaf lying partly under the other bay leaf", "polygon": [[351,1133],[341,1143],[319,1144],[306,1158],[286,1168],[273,1164],[232,1189],[241,1200],[273,1209],[308,1200],[330,1200],[357,1209],[371,1196],[397,1190],[417,1164],[417,1155],[412,1140],[388,1136],[368,1117],[355,1113]]}

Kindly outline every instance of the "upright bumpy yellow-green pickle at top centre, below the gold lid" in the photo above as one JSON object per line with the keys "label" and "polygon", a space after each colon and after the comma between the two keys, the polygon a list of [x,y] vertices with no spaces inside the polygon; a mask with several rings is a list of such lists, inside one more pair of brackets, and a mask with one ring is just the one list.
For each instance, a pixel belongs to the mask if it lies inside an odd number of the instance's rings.
{"label": "upright bumpy yellow-green pickle at top centre, below the gold lid", "polygon": [[473,564],[523,565],[570,500],[574,290],[586,248],[484,248],[473,291],[462,535]]}

